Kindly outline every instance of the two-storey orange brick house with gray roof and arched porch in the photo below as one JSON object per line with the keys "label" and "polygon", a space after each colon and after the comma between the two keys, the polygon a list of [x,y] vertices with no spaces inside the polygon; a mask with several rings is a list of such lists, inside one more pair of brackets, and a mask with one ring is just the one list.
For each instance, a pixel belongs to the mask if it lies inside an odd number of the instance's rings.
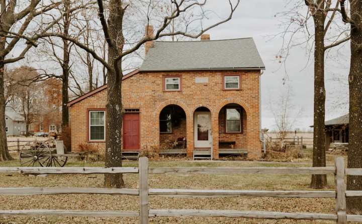
{"label": "two-storey orange brick house with gray roof and arched porch", "polygon": [[[201,41],[148,42],[145,50],[140,69],[123,77],[124,152],[262,155],[264,64],[252,38],[210,41],[203,35]],[[107,85],[68,103],[73,151],[80,145],[105,149],[106,99]]]}

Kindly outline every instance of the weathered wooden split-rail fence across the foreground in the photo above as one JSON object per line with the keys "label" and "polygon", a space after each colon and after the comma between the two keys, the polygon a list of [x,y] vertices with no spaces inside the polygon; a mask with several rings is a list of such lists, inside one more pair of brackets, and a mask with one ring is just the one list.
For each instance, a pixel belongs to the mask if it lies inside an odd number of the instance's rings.
{"label": "weathered wooden split-rail fence across the foreground", "polygon": [[[342,157],[335,159],[330,167],[148,167],[148,158],[139,158],[139,167],[0,167],[2,173],[23,174],[65,174],[65,173],[139,173],[139,189],[77,188],[77,187],[14,187],[0,188],[2,195],[36,194],[126,194],[138,196],[139,211],[101,211],[101,210],[0,210],[0,215],[52,215],[52,216],[138,216],[140,223],[148,223],[149,217],[158,216],[223,216],[268,219],[308,219],[362,222],[362,215],[346,214],[346,197],[362,196],[362,191],[346,191],[345,175],[362,175],[362,169],[344,168]],[[154,189],[148,186],[148,174],[164,173],[203,173],[203,174],[334,174],[335,191],[268,191],[268,190],[221,190],[221,189]],[[336,198],[335,213],[241,211],[241,210],[198,210],[198,209],[150,209],[149,196],[258,196],[258,197],[332,197]]]}

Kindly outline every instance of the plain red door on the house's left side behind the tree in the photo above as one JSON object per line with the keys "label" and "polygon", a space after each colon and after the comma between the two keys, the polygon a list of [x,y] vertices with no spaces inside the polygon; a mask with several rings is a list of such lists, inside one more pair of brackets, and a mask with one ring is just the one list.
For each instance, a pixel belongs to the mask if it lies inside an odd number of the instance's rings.
{"label": "plain red door on the house's left side behind the tree", "polygon": [[128,113],[123,117],[123,150],[139,150],[139,114]]}

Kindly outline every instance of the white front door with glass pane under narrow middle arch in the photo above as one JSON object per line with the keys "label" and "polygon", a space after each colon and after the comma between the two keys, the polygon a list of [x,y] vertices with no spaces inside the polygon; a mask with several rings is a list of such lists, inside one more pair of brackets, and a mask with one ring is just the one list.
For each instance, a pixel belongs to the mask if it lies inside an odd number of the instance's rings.
{"label": "white front door with glass pane under narrow middle arch", "polygon": [[194,139],[195,148],[210,148],[211,137],[211,113],[196,111],[194,115]]}

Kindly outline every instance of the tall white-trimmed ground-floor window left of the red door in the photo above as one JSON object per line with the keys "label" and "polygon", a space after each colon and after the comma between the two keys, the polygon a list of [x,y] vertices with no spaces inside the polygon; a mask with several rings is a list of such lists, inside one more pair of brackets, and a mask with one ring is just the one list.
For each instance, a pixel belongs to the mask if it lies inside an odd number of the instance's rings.
{"label": "tall white-trimmed ground-floor window left of the red door", "polygon": [[89,111],[89,141],[104,141],[105,133],[105,111]]}

